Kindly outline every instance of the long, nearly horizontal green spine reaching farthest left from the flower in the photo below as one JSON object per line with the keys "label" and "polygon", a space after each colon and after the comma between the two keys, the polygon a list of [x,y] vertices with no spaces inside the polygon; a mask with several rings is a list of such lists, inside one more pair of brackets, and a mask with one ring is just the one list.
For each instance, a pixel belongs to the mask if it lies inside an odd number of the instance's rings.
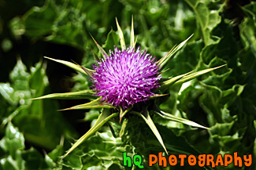
{"label": "long, nearly horizontal green spine reaching farthest left from the flower", "polygon": [[83,90],[80,92],[53,93],[35,99],[91,99],[94,98],[92,95],[95,95],[93,90]]}

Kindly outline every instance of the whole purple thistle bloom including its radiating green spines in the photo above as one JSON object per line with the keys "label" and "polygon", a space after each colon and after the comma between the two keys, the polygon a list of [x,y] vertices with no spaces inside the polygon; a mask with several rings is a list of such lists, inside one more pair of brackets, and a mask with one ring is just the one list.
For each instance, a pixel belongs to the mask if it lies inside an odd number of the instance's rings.
{"label": "whole purple thistle bloom including its radiating green spines", "polygon": [[[149,125],[152,132],[154,132],[154,135],[157,137],[159,143],[161,143],[161,146],[164,148],[166,153],[167,150],[163,140],[161,139],[161,135],[150,118],[150,111],[154,114],[160,115],[161,118],[169,119],[170,121],[177,121],[197,128],[206,128],[193,121],[189,121],[184,118],[176,118],[176,116],[173,114],[165,113],[158,108],[156,103],[154,103],[154,107],[150,107],[152,110],[148,110],[147,104],[145,104],[145,106],[143,106],[139,112],[138,110],[132,110],[132,105],[147,99],[158,99],[158,97],[163,96],[162,93],[165,92],[165,90],[162,89],[168,89],[173,85],[182,84],[185,81],[189,81],[198,77],[199,75],[206,74],[219,67],[209,68],[197,72],[191,71],[187,74],[178,75],[176,77],[161,79],[161,75],[158,73],[158,71],[164,67],[165,63],[167,63],[167,61],[170,60],[172,56],[179,49],[181,49],[191,37],[187,38],[184,42],[181,42],[180,45],[176,45],[165,56],[156,61],[155,57],[150,56],[147,51],[143,51],[140,48],[135,50],[133,22],[131,44],[127,49],[125,47],[124,35],[118,22],[117,30],[122,49],[120,50],[117,49],[117,47],[114,47],[114,52],[110,51],[109,56],[93,38],[99,51],[102,53],[102,57],[96,57],[96,64],[93,65],[94,70],[81,67],[78,64],[70,63],[68,61],[55,60],[46,57],[58,63],[63,63],[68,67],[72,67],[76,71],[83,74],[87,74],[95,85],[94,89],[83,90],[81,92],[55,93],[41,96],[36,99],[89,98],[92,99],[92,101],[89,103],[80,104],[64,110],[102,108],[102,113],[98,116],[98,120],[96,121],[95,125],[93,125],[86,134],[84,134],[76,141],[76,143],[72,145],[65,156],[79,146],[80,143],[83,143],[84,140],[97,132],[98,128],[102,127],[102,125],[104,125],[111,118],[120,115],[121,121],[121,118],[123,118],[127,113],[135,114],[140,118],[143,118],[147,125]],[[154,94],[153,90],[156,91],[156,89],[158,89],[157,91],[160,92],[160,94]],[[95,96],[99,96],[99,98],[94,99]]]}

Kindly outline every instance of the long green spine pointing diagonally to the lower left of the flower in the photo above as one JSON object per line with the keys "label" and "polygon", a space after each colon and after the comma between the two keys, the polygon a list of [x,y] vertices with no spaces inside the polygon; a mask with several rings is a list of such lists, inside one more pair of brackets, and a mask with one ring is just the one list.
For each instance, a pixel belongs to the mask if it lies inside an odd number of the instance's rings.
{"label": "long green spine pointing diagonally to the lower left of the flower", "polygon": [[69,151],[61,157],[62,159],[66,157],[72,150],[76,149],[77,146],[79,146],[81,143],[83,143],[84,140],[88,139],[91,135],[93,135],[95,132],[98,131],[98,128],[102,127],[109,119],[117,117],[119,113],[110,114],[109,110],[103,110],[102,114],[98,116],[97,121],[95,122],[95,125],[93,125],[88,132],[86,132],[80,139],[76,141],[72,145],[72,147],[69,149]]}

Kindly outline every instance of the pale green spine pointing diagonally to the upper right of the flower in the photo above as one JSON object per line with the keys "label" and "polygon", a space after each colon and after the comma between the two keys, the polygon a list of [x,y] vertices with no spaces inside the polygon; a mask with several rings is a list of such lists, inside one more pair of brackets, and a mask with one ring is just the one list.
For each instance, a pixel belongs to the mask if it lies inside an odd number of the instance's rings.
{"label": "pale green spine pointing diagonally to the upper right of the flower", "polygon": [[193,36],[193,34],[191,34],[191,36],[189,38],[187,38],[184,42],[181,42],[179,45],[175,45],[173,47],[173,49],[171,49],[165,56],[161,57],[160,60],[158,60],[158,65],[160,67],[163,67],[165,65],[165,63],[167,63],[171,58],[172,56],[177,52],[179,51],[186,43],[187,41]]}

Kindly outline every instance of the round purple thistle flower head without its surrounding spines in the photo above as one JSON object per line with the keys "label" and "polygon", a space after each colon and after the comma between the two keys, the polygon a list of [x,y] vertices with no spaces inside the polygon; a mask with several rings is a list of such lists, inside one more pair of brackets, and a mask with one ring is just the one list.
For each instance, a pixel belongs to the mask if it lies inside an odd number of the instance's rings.
{"label": "round purple thistle flower head without its surrounding spines", "polygon": [[161,75],[158,75],[155,57],[140,48],[121,51],[115,47],[106,60],[97,63],[93,65],[95,72],[92,75],[95,91],[97,96],[102,96],[101,100],[113,106],[127,109],[153,96],[151,91],[159,86]]}

